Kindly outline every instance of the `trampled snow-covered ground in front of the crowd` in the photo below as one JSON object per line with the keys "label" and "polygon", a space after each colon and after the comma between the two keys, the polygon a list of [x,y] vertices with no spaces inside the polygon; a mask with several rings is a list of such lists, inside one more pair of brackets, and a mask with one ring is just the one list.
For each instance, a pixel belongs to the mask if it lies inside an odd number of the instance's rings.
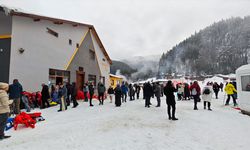
{"label": "trampled snow-covered ground in front of the crowd", "polygon": [[[142,99],[120,108],[105,101],[94,107],[57,112],[59,106],[42,110],[46,119],[35,129],[6,132],[12,137],[0,141],[1,150],[249,150],[250,117],[231,106],[222,105],[224,93],[214,99],[213,111],[193,101],[177,101],[178,121],[167,117],[165,97],[162,106],[144,107]],[[40,110],[39,110],[40,111]]]}

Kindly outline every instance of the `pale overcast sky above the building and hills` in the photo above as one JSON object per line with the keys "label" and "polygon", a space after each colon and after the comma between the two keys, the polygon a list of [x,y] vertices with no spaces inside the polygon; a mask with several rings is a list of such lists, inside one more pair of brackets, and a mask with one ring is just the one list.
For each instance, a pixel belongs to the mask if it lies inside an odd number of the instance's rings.
{"label": "pale overcast sky above the building and hills", "polygon": [[250,15],[250,0],[0,0],[0,4],[93,24],[111,59],[162,54],[214,22]]}

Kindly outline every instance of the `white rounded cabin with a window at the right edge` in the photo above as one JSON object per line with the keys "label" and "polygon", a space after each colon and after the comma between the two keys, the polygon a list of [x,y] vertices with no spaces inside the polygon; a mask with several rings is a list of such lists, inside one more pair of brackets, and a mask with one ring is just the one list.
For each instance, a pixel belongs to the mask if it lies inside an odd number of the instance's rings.
{"label": "white rounded cabin with a window at the right edge", "polygon": [[250,114],[250,64],[236,70],[236,80],[241,111]]}

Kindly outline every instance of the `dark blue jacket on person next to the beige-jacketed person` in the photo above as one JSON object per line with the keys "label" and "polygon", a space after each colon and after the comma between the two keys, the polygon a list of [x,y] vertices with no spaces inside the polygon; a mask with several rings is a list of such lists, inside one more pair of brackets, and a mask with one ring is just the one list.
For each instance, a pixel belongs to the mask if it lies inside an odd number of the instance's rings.
{"label": "dark blue jacket on person next to the beige-jacketed person", "polygon": [[21,93],[23,92],[23,87],[20,83],[13,83],[9,86],[9,96],[10,99],[21,98]]}

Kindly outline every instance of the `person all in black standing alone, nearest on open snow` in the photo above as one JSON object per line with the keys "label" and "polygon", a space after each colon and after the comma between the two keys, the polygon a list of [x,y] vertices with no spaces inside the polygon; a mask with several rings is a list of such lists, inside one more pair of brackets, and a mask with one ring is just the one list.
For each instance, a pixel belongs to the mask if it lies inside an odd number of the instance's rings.
{"label": "person all in black standing alone, nearest on open snow", "polygon": [[[169,120],[178,120],[175,117],[175,96],[174,96],[174,92],[177,92],[177,90],[175,89],[172,81],[168,81],[166,86],[164,87],[164,95],[166,96],[166,102],[168,105],[168,118]],[[172,108],[172,115],[171,115],[171,108]]]}

